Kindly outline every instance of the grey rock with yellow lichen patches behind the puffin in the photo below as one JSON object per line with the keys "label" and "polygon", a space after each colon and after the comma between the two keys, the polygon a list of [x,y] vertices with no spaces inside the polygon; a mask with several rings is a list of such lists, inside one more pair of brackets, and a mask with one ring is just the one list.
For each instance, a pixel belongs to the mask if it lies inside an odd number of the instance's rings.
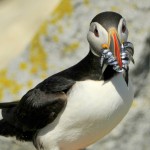
{"label": "grey rock with yellow lichen patches behind the puffin", "polygon": [[[121,13],[129,27],[129,41],[135,46],[131,77],[135,101],[123,121],[89,150],[148,150],[150,141],[150,1],[63,0],[39,29],[24,53],[0,71],[0,99],[19,99],[44,78],[81,60],[88,53],[86,34],[91,19],[99,12]],[[88,66],[87,66],[88,67]],[[1,144],[3,143],[3,144]],[[0,143],[0,150],[32,149],[12,140]],[[17,145],[17,147],[16,147]],[[16,148],[12,148],[16,147]]]}

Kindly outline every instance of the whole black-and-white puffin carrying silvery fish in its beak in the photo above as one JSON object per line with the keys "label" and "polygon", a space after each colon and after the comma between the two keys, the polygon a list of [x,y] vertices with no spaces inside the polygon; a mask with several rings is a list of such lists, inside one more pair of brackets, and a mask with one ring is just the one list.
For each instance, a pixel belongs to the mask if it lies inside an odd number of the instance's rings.
{"label": "whole black-and-white puffin carrying silvery fish in its beak", "polygon": [[129,63],[134,47],[126,20],[97,14],[80,62],[29,90],[20,101],[0,103],[0,135],[33,142],[37,150],[81,150],[107,135],[129,111],[134,92]]}

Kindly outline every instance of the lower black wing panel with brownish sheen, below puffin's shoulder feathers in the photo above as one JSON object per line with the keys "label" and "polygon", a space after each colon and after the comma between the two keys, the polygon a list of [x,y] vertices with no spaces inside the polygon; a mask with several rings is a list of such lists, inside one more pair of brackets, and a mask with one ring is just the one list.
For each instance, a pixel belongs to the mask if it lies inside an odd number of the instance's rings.
{"label": "lower black wing panel with brownish sheen, below puffin's shoulder feathers", "polygon": [[15,110],[16,122],[23,130],[37,130],[51,123],[67,102],[64,92],[46,93],[30,90]]}

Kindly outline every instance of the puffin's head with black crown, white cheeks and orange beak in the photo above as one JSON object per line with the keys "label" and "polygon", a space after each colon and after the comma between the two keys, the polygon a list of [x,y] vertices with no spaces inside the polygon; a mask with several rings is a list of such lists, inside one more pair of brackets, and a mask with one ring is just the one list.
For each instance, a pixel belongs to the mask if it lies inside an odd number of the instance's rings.
{"label": "puffin's head with black crown, white cheeks and orange beak", "polygon": [[102,12],[96,15],[91,23],[87,40],[90,50],[96,56],[104,48],[110,49],[118,64],[122,65],[120,57],[121,44],[127,41],[128,29],[125,19],[116,12]]}

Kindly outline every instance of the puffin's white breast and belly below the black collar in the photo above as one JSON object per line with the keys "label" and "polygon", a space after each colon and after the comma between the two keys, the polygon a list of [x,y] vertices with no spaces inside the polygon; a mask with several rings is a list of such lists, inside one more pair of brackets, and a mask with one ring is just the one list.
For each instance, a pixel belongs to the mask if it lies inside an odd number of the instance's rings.
{"label": "puffin's white breast and belly below the black collar", "polygon": [[131,84],[122,74],[111,81],[77,82],[68,95],[68,103],[59,118],[46,126],[38,139],[53,150],[86,147],[110,132],[128,112],[133,100]]}

